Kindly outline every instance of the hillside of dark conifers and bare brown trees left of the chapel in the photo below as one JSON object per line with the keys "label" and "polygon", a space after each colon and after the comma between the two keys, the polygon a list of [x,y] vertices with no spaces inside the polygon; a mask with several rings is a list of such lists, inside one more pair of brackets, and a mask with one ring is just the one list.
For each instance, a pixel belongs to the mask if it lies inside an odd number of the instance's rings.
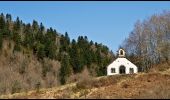
{"label": "hillside of dark conifers and bare brown trees left of the chapel", "polygon": [[86,69],[92,76],[106,75],[106,66],[115,57],[107,46],[87,36],[70,40],[67,32],[3,13],[0,50],[0,94],[66,84]]}

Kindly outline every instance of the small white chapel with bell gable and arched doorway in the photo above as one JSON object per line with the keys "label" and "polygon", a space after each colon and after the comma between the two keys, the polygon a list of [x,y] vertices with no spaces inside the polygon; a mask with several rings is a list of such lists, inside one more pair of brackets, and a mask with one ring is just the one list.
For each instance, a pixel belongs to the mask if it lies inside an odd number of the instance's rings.
{"label": "small white chapel with bell gable and arched doorway", "polygon": [[119,49],[118,58],[107,66],[107,75],[133,74],[137,72],[137,66],[125,58],[125,51],[123,49]]}

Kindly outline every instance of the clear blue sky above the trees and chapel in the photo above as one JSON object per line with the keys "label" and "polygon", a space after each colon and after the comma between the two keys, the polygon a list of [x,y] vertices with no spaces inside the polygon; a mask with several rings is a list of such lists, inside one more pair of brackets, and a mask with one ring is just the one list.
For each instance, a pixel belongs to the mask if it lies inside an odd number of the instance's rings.
{"label": "clear blue sky above the trees and chapel", "polygon": [[42,22],[71,39],[87,36],[116,52],[137,20],[170,10],[170,1],[0,1],[0,13]]}

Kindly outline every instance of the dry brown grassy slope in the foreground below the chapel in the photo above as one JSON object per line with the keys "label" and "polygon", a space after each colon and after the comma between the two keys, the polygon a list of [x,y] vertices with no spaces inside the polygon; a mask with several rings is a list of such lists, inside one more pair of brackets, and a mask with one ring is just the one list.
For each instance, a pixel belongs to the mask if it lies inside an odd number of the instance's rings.
{"label": "dry brown grassy slope in the foreground below the chapel", "polygon": [[0,98],[170,98],[170,67],[159,66],[149,73],[104,76],[80,86],[72,83]]}

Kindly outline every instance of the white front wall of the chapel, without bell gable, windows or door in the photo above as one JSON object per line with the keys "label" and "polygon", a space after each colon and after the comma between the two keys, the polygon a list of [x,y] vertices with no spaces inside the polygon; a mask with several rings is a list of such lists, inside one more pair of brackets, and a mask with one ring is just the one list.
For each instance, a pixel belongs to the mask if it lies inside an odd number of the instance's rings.
{"label": "white front wall of the chapel, without bell gable, windows or door", "polygon": [[[126,71],[125,74],[130,73],[129,72],[130,68],[133,68],[134,73],[138,72],[137,66],[131,63],[129,60],[127,60],[126,58],[117,58],[113,63],[111,63],[107,67],[107,75],[119,74],[119,67],[121,65],[125,66],[125,71]],[[115,68],[115,73],[111,73],[111,68]]]}

